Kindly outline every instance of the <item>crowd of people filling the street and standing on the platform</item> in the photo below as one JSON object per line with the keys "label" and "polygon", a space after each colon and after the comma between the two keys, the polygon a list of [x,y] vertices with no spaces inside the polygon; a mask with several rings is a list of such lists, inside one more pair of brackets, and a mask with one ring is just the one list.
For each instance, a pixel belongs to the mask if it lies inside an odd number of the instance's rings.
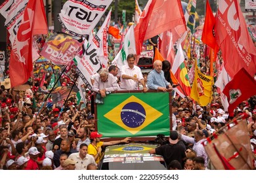
{"label": "crowd of people filling the street and standing on the platform", "polygon": [[[196,57],[187,62],[188,71]],[[219,55],[221,57],[221,55]],[[102,148],[122,142],[100,141],[95,129],[95,116],[91,108],[94,100],[107,97],[116,90],[158,90],[171,92],[173,85],[169,61],[154,61],[150,73],[142,73],[135,65],[136,56],[127,56],[127,65],[118,68],[111,65],[91,76],[93,88],[83,85],[85,100],[77,104],[71,96],[60,103],[54,103],[43,91],[49,88],[53,67],[34,65],[35,78],[28,81],[26,88],[11,88],[9,78],[1,82],[1,123],[0,123],[0,169],[7,170],[72,170],[97,169],[104,156]],[[221,58],[220,58],[221,60]],[[200,59],[200,70],[209,73],[209,60]],[[43,69],[42,69],[43,68]],[[45,75],[44,75],[45,74]],[[45,76],[43,85],[41,80]],[[60,76],[61,86],[75,83],[75,66]],[[24,86],[24,87],[25,87]],[[97,97],[98,95],[98,97]],[[95,102],[96,102],[95,99]],[[190,97],[175,95],[172,103],[173,130],[167,144],[150,150],[150,154],[160,154],[169,169],[214,169],[207,157],[202,141],[244,112],[248,114],[247,129],[251,139],[251,149],[256,155],[256,97],[240,103],[234,116],[223,110],[217,88],[213,87],[213,100],[207,107],[196,105]],[[256,156],[255,156],[256,157]]]}

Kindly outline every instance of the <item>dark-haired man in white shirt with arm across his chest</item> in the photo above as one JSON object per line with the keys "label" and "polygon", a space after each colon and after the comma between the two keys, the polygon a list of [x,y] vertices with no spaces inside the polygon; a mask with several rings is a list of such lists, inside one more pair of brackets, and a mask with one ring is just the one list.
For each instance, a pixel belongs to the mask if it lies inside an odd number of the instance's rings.
{"label": "dark-haired man in white shirt with arm across his chest", "polygon": [[121,67],[121,90],[139,90],[139,82],[143,86],[143,92],[147,91],[140,67],[134,65],[135,55],[127,56],[128,65]]}

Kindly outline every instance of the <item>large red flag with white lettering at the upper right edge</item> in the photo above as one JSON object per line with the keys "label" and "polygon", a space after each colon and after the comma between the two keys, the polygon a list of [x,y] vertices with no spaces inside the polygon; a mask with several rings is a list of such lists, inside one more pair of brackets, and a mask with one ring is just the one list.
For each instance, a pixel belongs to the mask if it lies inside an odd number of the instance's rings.
{"label": "large red flag with white lettering at the upper right edge", "polygon": [[233,78],[244,67],[249,75],[254,76],[256,48],[238,1],[220,1],[216,20],[216,40],[228,75]]}

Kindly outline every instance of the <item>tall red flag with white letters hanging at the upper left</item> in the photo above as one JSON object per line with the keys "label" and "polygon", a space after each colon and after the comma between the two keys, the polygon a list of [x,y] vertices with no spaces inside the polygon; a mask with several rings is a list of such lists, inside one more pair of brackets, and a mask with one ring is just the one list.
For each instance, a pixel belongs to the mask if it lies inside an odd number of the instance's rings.
{"label": "tall red flag with white letters hanging at the upper left", "polygon": [[14,41],[10,58],[11,86],[24,84],[33,71],[33,35],[47,34],[45,9],[42,0],[30,0]]}

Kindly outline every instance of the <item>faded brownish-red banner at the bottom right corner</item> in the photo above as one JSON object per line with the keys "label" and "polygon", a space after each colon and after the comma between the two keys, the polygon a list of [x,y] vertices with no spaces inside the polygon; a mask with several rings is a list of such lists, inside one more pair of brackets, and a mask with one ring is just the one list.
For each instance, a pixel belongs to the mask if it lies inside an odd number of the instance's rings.
{"label": "faded brownish-red banner at the bottom right corner", "polygon": [[[233,126],[232,126],[233,125]],[[228,125],[224,133],[216,133],[205,141],[205,151],[217,170],[252,170],[253,153],[245,120]]]}

